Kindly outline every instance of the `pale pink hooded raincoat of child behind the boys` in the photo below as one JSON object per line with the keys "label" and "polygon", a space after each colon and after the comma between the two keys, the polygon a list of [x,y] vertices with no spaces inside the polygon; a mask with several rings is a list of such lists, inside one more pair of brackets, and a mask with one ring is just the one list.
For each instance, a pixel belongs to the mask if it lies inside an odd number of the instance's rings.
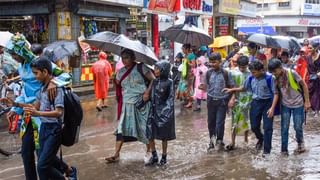
{"label": "pale pink hooded raincoat of child behind the boys", "polygon": [[201,64],[196,69],[194,69],[194,75],[196,77],[194,83],[194,99],[207,99],[206,91],[198,89],[199,85],[204,80],[207,71],[208,68],[204,64]]}

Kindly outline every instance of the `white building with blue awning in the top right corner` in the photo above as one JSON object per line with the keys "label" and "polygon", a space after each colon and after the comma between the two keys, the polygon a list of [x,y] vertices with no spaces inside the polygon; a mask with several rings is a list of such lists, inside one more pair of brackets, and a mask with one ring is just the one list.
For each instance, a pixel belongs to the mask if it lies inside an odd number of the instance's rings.
{"label": "white building with blue awning in the top right corner", "polygon": [[256,18],[238,18],[239,32],[312,37],[320,33],[320,4],[313,0],[255,0]]}

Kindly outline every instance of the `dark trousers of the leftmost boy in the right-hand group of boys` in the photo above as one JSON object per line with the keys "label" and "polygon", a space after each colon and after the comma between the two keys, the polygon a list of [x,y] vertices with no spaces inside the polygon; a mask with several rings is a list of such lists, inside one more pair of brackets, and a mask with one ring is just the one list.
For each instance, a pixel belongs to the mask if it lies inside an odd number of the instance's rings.
{"label": "dark trousers of the leftmost boy in the right-hand group of boys", "polygon": [[208,108],[208,130],[210,139],[213,137],[223,141],[224,123],[228,109],[227,99],[214,99],[210,96],[207,98]]}

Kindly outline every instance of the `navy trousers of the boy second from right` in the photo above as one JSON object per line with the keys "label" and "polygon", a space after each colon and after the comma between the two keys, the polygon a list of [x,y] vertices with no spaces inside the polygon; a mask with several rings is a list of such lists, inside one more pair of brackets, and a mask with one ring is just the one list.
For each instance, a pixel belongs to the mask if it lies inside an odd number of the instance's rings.
{"label": "navy trousers of the boy second from right", "polygon": [[[272,105],[272,99],[253,100],[250,108],[251,130],[259,141],[264,142],[263,152],[271,152],[273,133],[273,118],[268,118],[267,112]],[[261,120],[263,119],[264,134],[261,133]]]}

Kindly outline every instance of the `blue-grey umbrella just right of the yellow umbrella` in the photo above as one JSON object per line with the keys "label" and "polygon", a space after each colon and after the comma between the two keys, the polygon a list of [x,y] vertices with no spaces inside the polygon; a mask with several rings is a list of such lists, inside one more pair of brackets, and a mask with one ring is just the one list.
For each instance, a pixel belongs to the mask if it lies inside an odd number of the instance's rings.
{"label": "blue-grey umbrella just right of the yellow umbrella", "polygon": [[281,46],[278,44],[278,42],[275,39],[265,34],[260,34],[260,33],[250,34],[247,38],[247,41],[254,42],[261,46],[266,46],[271,48],[281,48]]}

